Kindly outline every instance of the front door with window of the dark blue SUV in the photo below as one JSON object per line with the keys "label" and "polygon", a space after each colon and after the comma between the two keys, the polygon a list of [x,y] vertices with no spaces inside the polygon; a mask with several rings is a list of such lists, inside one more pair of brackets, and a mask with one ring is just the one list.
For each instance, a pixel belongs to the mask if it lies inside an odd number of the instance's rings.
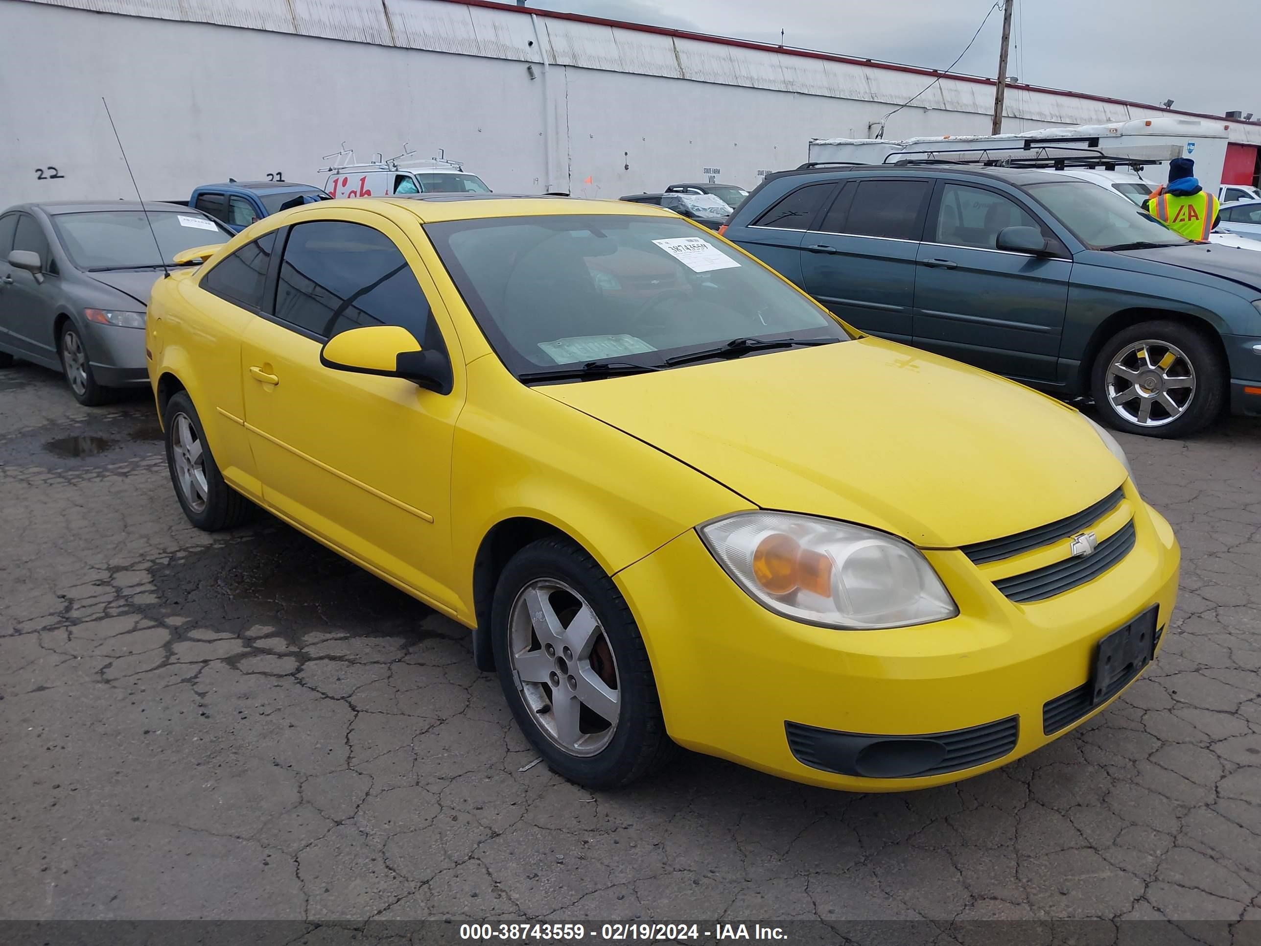
{"label": "front door with window of the dark blue SUV", "polygon": [[[996,248],[1005,227],[1035,227],[1055,255]],[[941,182],[918,250],[914,343],[1011,377],[1053,381],[1073,264],[1023,203]]]}

